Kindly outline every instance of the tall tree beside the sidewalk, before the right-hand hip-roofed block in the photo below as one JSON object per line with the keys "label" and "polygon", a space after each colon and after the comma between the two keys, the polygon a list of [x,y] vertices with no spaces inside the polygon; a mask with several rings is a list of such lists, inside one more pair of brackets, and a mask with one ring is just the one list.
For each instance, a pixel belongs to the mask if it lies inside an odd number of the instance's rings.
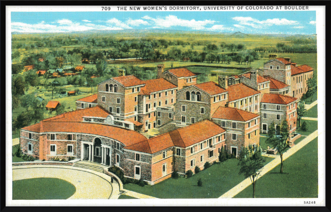
{"label": "tall tree beside the sidewalk, before the right-hand hip-roofed block", "polygon": [[289,137],[288,123],[284,120],[281,124],[280,135],[276,135],[274,122],[268,127],[268,134],[266,142],[270,144],[272,149],[276,148],[281,155],[281,173],[283,173],[283,154],[287,148],[287,139]]}

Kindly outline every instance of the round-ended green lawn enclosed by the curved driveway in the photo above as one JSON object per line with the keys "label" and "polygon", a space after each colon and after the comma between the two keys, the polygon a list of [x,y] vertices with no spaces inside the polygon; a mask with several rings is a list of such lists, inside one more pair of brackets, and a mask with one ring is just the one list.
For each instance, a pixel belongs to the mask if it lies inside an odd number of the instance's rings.
{"label": "round-ended green lawn enclosed by the curved driveway", "polygon": [[75,192],[71,183],[57,178],[13,181],[13,199],[68,199]]}

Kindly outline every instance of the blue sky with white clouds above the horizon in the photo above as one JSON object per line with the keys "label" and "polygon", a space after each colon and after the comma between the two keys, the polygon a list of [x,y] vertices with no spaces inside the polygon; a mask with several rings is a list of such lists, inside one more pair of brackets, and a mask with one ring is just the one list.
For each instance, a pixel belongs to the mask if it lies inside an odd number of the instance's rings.
{"label": "blue sky with white clouds above the horizon", "polygon": [[12,32],[166,29],[262,34],[316,34],[315,11],[12,12]]}

